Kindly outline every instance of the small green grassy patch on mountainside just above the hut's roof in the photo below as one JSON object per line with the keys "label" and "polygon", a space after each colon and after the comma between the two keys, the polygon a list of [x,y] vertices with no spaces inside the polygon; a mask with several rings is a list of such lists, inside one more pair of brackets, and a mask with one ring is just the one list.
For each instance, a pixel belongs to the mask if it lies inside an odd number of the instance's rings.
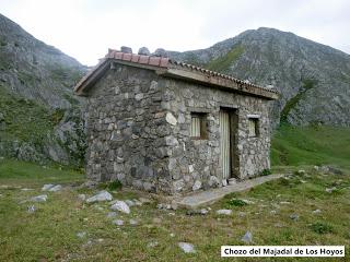
{"label": "small green grassy patch on mountainside just above the hut's roof", "polygon": [[241,57],[243,52],[244,52],[244,47],[236,46],[226,55],[211,60],[209,63],[205,66],[205,68],[209,70],[218,71],[218,72],[224,72],[232,66],[232,63],[234,63]]}

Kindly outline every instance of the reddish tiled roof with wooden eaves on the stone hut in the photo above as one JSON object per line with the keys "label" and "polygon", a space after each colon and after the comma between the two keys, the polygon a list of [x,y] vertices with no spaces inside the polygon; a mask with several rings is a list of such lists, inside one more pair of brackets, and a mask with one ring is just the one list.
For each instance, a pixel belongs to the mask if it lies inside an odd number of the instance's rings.
{"label": "reddish tiled roof with wooden eaves on the stone hut", "polygon": [[94,80],[98,78],[98,72],[109,67],[109,61],[120,61],[121,63],[126,62],[129,66],[164,70],[164,74],[170,76],[176,74],[173,72],[174,70],[187,72],[190,73],[190,75],[195,74],[195,78],[188,74],[182,74],[182,79],[197,80],[199,82],[218,86],[231,86],[232,83],[234,83],[237,86],[238,92],[250,93],[252,95],[258,95],[270,99],[277,99],[279,95],[276,90],[255,85],[247,81],[235,79],[231,75],[218,73],[197,66],[178,62],[170,58],[127,53],[113,49],[108,49],[108,53],[105,56],[105,58],[101,59],[100,63],[94,67],[81,81],[79,81],[74,87],[74,91],[77,93],[81,93],[82,90],[93,83]]}

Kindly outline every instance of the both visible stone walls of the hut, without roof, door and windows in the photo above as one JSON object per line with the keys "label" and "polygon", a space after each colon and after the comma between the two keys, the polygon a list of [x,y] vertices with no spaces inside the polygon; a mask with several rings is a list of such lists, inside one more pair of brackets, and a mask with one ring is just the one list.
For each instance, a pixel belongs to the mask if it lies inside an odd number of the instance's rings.
{"label": "both visible stone walls of the hut, without roof, door and windows", "polygon": [[[238,115],[237,178],[269,168],[268,100],[116,64],[89,93],[88,177],[166,194],[221,187],[221,107]],[[192,111],[206,112],[206,140],[190,138]],[[258,138],[248,138],[249,114],[260,116]]]}

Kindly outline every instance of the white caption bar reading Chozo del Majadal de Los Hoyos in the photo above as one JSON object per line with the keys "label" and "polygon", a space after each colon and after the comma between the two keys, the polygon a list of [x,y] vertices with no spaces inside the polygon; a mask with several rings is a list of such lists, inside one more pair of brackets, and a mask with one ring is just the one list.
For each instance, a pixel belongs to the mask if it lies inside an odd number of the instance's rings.
{"label": "white caption bar reading Chozo del Majadal de Los Hoyos", "polygon": [[345,257],[345,246],[221,246],[221,257]]}

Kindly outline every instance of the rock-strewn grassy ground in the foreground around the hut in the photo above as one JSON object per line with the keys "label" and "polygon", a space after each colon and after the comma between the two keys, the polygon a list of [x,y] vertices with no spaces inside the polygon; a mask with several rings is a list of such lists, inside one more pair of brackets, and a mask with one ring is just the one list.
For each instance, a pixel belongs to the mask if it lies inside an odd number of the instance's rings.
{"label": "rock-strewn grassy ground in the foreground around the hut", "polygon": [[[349,258],[349,171],[343,176],[324,176],[306,169],[304,176],[293,175],[228,195],[211,205],[206,216],[188,216],[184,210],[159,210],[156,202],[132,206],[131,214],[117,215],[126,223],[117,227],[106,217],[108,203],[85,204],[78,199],[79,193],[93,195],[95,190],[67,188],[47,192],[47,202],[35,203],[37,211],[33,214],[26,212],[33,203],[23,201],[42,194],[44,183],[75,183],[82,180],[81,174],[15,160],[2,160],[0,168],[0,261],[261,261],[259,258],[220,258],[222,245],[244,245],[241,238],[246,230],[253,234],[253,245],[345,245]],[[335,186],[337,191],[325,191]],[[30,187],[33,191],[21,191],[20,187]],[[110,192],[121,200],[142,195],[119,188]],[[254,203],[230,205],[232,216],[217,215],[215,210],[228,209],[228,201],[232,199]],[[322,212],[314,214],[316,209]],[[293,221],[291,214],[300,218]],[[138,219],[139,225],[130,226],[130,218]],[[79,238],[77,233],[81,231],[86,236]],[[148,247],[151,241],[158,246]],[[177,247],[179,241],[194,243],[197,253],[184,253]],[[264,261],[295,259],[266,258]],[[304,258],[299,261],[346,260]]]}

